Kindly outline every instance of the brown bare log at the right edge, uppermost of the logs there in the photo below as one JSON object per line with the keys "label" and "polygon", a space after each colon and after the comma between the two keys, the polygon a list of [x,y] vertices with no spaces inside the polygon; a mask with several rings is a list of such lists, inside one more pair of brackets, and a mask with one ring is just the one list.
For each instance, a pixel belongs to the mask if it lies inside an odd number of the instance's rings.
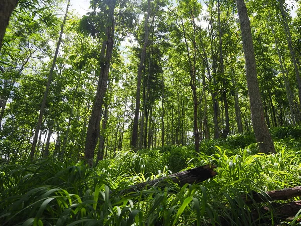
{"label": "brown bare log at the right edge, uppermost of the logs there", "polygon": [[262,193],[252,193],[243,197],[246,203],[255,202],[266,202],[266,201],[276,201],[276,200],[288,200],[293,197],[301,196],[301,186],[285,188],[282,190],[267,191]]}

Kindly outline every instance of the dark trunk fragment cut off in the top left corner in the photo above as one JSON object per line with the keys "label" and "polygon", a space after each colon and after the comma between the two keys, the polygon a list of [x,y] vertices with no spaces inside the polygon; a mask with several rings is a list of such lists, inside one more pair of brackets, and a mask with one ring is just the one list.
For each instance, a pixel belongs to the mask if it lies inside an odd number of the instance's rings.
{"label": "dark trunk fragment cut off in the top left corner", "polygon": [[5,30],[9,25],[10,17],[17,4],[18,0],[0,1],[0,50],[2,47],[2,41],[5,34]]}

